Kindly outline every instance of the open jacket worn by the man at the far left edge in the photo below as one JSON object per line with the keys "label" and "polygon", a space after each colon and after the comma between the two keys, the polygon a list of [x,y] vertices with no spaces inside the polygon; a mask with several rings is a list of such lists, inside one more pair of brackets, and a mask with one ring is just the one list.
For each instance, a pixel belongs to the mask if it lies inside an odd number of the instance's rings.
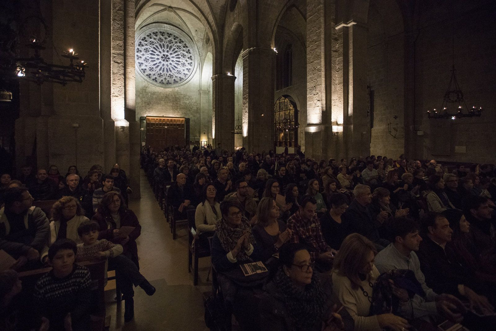
{"label": "open jacket worn by the man at the far left edge", "polygon": [[48,218],[40,208],[29,208],[24,214],[24,230],[16,232],[11,232],[5,208],[0,209],[0,249],[15,259],[25,255],[30,248],[41,253],[49,238]]}

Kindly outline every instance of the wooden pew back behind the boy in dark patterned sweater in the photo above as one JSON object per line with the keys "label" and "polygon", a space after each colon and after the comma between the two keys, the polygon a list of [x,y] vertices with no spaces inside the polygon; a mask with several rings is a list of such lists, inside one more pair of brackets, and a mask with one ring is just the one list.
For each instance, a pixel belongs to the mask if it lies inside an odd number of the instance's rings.
{"label": "wooden pew back behind the boy in dark patterned sweater", "polygon": [[[91,292],[93,294],[92,311],[90,312],[91,331],[103,331],[105,328],[105,260],[83,261],[78,264],[87,267],[91,274]],[[19,272],[19,279],[22,281],[22,297],[27,300],[34,300],[33,292],[36,282],[50,270],[52,267]]]}

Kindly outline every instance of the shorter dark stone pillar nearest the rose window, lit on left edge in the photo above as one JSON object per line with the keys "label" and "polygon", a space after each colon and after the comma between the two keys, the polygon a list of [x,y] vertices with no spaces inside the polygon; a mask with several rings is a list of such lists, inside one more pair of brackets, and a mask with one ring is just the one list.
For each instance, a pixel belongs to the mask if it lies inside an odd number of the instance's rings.
{"label": "shorter dark stone pillar nearest the rose window, lit on left edge", "polygon": [[234,149],[234,81],[225,73],[212,76],[213,146],[220,142],[226,150]]}

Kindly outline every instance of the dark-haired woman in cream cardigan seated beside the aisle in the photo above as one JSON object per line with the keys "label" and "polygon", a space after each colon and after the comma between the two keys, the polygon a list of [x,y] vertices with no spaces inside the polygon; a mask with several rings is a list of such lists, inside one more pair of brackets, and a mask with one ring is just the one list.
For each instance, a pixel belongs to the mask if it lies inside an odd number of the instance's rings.
{"label": "dark-haired woman in cream cardigan seated beside the aisle", "polygon": [[203,188],[202,202],[196,206],[194,213],[194,224],[196,233],[200,237],[203,247],[209,247],[208,237],[212,237],[215,226],[221,217],[220,204],[215,200],[217,190],[213,184],[207,184]]}

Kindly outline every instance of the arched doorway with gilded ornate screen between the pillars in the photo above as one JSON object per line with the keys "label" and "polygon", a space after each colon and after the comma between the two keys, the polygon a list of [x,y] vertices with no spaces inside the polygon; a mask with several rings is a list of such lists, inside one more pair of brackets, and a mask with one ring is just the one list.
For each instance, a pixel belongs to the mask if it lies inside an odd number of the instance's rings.
{"label": "arched doorway with gilded ornate screen between the pillars", "polygon": [[274,104],[275,152],[282,153],[288,147],[294,153],[298,146],[298,108],[291,96],[283,95]]}

